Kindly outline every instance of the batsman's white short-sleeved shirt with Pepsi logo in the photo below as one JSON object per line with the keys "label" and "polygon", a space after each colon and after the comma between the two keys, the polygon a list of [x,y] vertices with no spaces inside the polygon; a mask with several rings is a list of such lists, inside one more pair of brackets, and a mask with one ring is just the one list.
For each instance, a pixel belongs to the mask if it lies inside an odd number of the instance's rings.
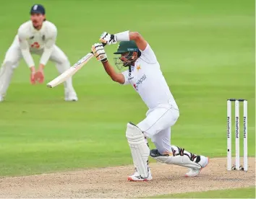
{"label": "batsman's white short-sleeved shirt with Pepsi logo", "polygon": [[132,66],[132,72],[122,73],[124,84],[131,84],[149,109],[165,104],[178,109],[152,48],[148,44],[145,50],[140,51],[141,56]]}

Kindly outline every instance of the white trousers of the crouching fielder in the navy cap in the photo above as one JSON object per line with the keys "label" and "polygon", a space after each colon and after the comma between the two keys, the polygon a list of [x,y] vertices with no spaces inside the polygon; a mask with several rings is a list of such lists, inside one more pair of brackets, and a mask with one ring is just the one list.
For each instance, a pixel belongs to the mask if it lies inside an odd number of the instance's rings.
{"label": "white trousers of the crouching fielder in the navy cap", "polygon": [[[42,55],[42,50],[35,50],[31,52],[32,54]],[[19,39],[16,35],[12,45],[7,50],[7,53],[4,58],[4,62],[0,68],[0,97],[4,96],[9,87],[9,83],[12,79],[12,74],[14,72],[14,68],[17,68],[19,65],[20,59],[22,58],[22,53],[20,50]],[[59,74],[63,73],[70,67],[69,60],[64,52],[56,45],[54,45],[54,50],[51,53],[50,61],[54,62],[56,65]],[[72,78],[67,79],[64,82],[64,91],[65,93],[74,92],[74,88],[72,86]]]}

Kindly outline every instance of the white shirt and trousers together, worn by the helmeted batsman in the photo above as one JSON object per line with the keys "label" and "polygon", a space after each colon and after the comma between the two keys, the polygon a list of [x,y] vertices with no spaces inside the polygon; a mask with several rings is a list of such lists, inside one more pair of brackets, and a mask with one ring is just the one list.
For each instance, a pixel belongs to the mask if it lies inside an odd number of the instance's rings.
{"label": "white shirt and trousers together, worn by the helmeted batsman", "polygon": [[124,84],[132,84],[149,108],[147,117],[137,126],[151,138],[160,153],[171,152],[171,126],[179,118],[179,109],[150,45],[141,51],[132,72],[122,74]]}

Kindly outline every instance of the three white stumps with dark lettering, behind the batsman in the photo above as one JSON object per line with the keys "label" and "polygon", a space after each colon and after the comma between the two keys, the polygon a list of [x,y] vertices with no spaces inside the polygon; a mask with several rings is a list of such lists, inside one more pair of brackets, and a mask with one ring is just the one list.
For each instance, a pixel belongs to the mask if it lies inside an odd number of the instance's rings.
{"label": "three white stumps with dark lettering, behind the batsman", "polygon": [[[231,153],[231,103],[235,103],[235,138],[236,138],[236,162],[234,167],[232,164]],[[239,146],[239,102],[244,104],[243,112],[243,133],[244,133],[244,167],[240,166],[240,146]],[[227,169],[233,170],[248,170],[248,157],[247,157],[247,100],[246,99],[228,99],[227,100]]]}

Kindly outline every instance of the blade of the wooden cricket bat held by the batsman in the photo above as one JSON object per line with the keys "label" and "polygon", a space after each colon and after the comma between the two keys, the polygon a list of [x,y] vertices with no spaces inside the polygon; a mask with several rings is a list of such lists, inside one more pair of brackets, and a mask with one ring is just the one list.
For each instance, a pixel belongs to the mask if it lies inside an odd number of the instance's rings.
{"label": "blade of the wooden cricket bat held by the batsman", "polygon": [[49,88],[54,88],[58,86],[59,84],[63,83],[66,81],[70,76],[73,76],[77,71],[79,71],[82,66],[85,65],[85,63],[88,63],[90,59],[93,58],[93,53],[88,53],[86,56],[82,57],[80,61],[77,61],[77,63],[74,63],[72,67],[67,69],[67,71],[64,71],[64,73],[60,74],[57,76],[55,79],[52,81],[48,82],[46,85]]}

